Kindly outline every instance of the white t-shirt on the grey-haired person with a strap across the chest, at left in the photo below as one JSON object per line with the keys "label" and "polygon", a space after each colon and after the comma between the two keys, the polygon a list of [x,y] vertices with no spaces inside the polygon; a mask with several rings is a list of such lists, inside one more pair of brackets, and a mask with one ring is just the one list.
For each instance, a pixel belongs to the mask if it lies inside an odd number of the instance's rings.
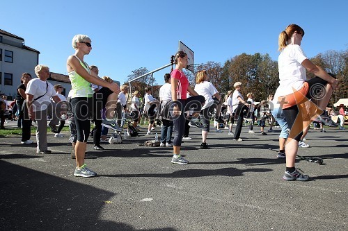
{"label": "white t-shirt on the grey-haired person with a strap across the chest, at left", "polygon": [[51,83],[48,83],[47,87],[46,83],[48,82],[42,81],[40,80],[40,78],[33,78],[26,86],[25,93],[33,95],[33,100],[45,94],[40,99],[33,102],[33,112],[46,110],[47,105],[52,102],[51,97],[57,95],[56,91],[54,91],[53,85]]}

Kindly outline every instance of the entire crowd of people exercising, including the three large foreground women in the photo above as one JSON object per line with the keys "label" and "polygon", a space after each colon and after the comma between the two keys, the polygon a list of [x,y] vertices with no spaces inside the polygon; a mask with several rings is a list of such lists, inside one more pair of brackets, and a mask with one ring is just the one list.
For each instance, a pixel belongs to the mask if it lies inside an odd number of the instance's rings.
{"label": "entire crowd of people exercising, including the three large foreground women", "polygon": [[[99,69],[84,62],[84,56],[92,49],[90,38],[87,35],[75,35],[72,39],[75,52],[68,57],[66,63],[72,84],[68,97],[65,99],[61,94],[61,85],[53,86],[47,82],[49,67],[37,65],[35,74],[38,78],[31,78],[29,73],[22,75],[16,101],[11,104],[13,117],[10,118],[17,119],[18,127],[22,127],[22,144],[33,143],[30,130],[32,121],[36,122],[36,152],[41,154],[52,153],[47,145],[47,126],[55,133],[55,137],[63,137],[61,130],[65,120],[68,120],[72,157],[77,163],[74,176],[82,177],[97,174],[84,162],[90,135],[93,135],[94,149],[103,151],[101,144],[112,144],[113,138],[120,137],[122,132],[125,135],[134,132],[137,134],[141,121],[145,118],[148,119],[148,126],[144,134],[152,139],[154,127],[161,126],[159,146],[173,148],[171,163],[174,164],[189,164],[180,155],[180,151],[182,139],[191,139],[190,127],[201,130],[200,148],[207,149],[211,121],[216,127],[214,132],[226,129],[226,135],[231,135],[238,142],[243,141],[240,136],[244,124],[248,126],[249,133],[260,135],[267,135],[267,132],[274,131],[274,126],[280,126],[277,157],[286,160],[283,179],[306,181],[309,177],[295,169],[294,158],[299,147],[309,147],[303,141],[310,123],[314,120],[315,128],[319,126],[322,132],[323,125],[345,129],[347,111],[344,105],[340,105],[340,124],[331,119],[335,112],[332,108],[327,108],[327,105],[338,82],[333,74],[326,73],[308,60],[300,46],[303,35],[303,29],[295,24],[287,26],[280,33],[280,85],[268,99],[258,99],[258,103],[255,102],[253,92],[249,92],[244,98],[241,94],[244,86],[238,81],[226,95],[220,94],[209,82],[209,75],[205,70],[198,71],[196,85],[191,87],[183,72],[188,63],[187,54],[183,51],[178,51],[171,57],[171,73],[164,75],[165,84],[159,89],[159,99],[152,96],[151,87],[146,87],[141,101],[139,90],[129,96],[127,85],[118,86],[109,76],[100,78]],[[306,70],[317,77],[306,80]],[[315,85],[321,85],[320,91],[325,93],[320,99],[313,96],[311,91]],[[1,102],[1,128],[4,128],[4,117],[9,115],[6,97]],[[92,131],[91,122],[95,125]],[[267,123],[269,129],[265,130]],[[259,132],[254,129],[256,124],[260,126]],[[124,130],[123,127],[128,129]],[[110,138],[109,128],[114,131]]]}

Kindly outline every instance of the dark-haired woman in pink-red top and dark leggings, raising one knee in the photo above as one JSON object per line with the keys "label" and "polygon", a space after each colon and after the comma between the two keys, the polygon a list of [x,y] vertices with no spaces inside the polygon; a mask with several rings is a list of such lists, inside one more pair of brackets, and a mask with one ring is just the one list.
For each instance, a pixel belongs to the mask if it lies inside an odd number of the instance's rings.
{"label": "dark-haired woman in pink-red top and dark leggings, raising one knee", "polygon": [[[189,85],[189,80],[182,71],[183,68],[187,67],[187,53],[178,51],[175,56],[171,56],[171,94],[172,94],[172,105],[171,111],[173,112],[174,128],[176,135],[173,140],[173,164],[189,164],[180,155],[180,148],[182,142],[182,135],[184,135],[185,128],[185,113],[186,111],[193,109],[193,112],[200,112],[203,103],[205,103],[204,96],[199,96]],[[173,65],[175,64],[175,69]],[[191,94],[191,97],[187,99],[187,92]]]}

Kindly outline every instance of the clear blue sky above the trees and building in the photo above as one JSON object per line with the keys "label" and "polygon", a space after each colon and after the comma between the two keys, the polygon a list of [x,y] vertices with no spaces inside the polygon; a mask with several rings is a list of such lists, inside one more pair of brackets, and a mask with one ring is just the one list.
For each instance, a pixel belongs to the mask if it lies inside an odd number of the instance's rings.
{"label": "clear blue sky above the trees and building", "polygon": [[[278,35],[288,24],[306,32],[309,58],[348,48],[347,1],[2,1],[0,28],[23,37],[40,51],[40,64],[66,74],[76,34],[93,44],[88,65],[100,76],[124,83],[140,67],[154,70],[170,62],[181,40],[195,63],[221,62],[241,53],[278,58]],[[157,83],[170,68],[155,74]]]}

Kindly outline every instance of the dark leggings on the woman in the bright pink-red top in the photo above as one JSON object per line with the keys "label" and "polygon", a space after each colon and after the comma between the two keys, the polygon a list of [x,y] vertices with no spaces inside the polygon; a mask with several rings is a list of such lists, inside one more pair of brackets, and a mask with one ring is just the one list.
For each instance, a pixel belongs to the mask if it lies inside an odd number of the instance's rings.
{"label": "dark leggings on the woman in the bright pink-red top", "polygon": [[[181,111],[180,116],[173,117],[174,128],[176,134],[173,140],[174,146],[181,146],[182,136],[184,135],[185,130],[185,113],[186,111],[193,109],[193,112],[200,112],[202,105],[205,102],[204,96],[192,96],[188,99],[179,99],[175,104],[179,106]],[[173,104],[171,105],[170,111],[173,112]],[[177,153],[174,153],[177,154]]]}

